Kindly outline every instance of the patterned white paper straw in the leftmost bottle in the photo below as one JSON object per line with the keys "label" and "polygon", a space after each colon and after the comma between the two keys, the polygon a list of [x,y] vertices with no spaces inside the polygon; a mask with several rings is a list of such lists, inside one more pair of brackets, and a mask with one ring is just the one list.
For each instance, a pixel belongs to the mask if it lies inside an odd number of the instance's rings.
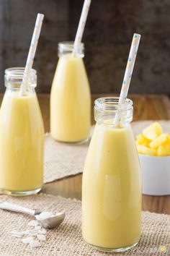
{"label": "patterned white paper straw in the leftmost bottle", "polygon": [[24,95],[24,93],[27,90],[27,74],[31,71],[32,69],[32,64],[35,58],[35,51],[37,49],[37,42],[38,39],[40,37],[40,31],[41,31],[41,27],[42,27],[42,20],[44,18],[44,14],[37,14],[37,20],[35,22],[35,29],[32,35],[32,40],[31,40],[31,44],[30,44],[30,50],[27,56],[27,62],[26,62],[26,66],[24,69],[24,75],[23,75],[23,79],[22,79],[22,85],[21,85],[21,93],[22,95]]}

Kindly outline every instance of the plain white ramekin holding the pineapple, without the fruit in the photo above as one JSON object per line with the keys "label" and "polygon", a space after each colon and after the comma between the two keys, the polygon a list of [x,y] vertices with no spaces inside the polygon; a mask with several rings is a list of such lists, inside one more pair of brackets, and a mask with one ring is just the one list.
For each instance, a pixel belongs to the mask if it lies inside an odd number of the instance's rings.
{"label": "plain white ramekin holding the pineapple, without the fruit", "polygon": [[170,156],[140,155],[143,194],[170,195]]}

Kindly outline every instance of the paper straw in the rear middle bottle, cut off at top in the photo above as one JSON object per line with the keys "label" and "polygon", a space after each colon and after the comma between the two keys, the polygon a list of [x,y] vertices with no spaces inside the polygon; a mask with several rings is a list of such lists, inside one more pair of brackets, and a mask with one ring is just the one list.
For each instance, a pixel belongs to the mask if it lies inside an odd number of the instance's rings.
{"label": "paper straw in the rear middle bottle, cut off at top", "polygon": [[82,39],[82,36],[84,33],[84,27],[86,25],[86,18],[89,13],[90,4],[91,4],[91,0],[84,0],[84,6],[83,6],[83,9],[81,12],[79,26],[78,26],[77,33],[76,33],[76,38],[73,43],[73,54],[76,54],[77,49],[79,48],[79,46],[81,44],[81,39]]}

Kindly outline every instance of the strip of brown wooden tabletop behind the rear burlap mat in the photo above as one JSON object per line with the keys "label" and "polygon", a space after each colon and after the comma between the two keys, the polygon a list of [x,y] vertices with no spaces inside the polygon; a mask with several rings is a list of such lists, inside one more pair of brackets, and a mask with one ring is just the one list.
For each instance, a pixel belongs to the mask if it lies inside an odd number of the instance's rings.
{"label": "strip of brown wooden tabletop behind the rear burlap mat", "polygon": [[[110,94],[92,95],[91,123],[94,124],[94,100],[99,97],[111,96]],[[170,101],[166,95],[129,95],[133,100],[134,114],[133,120],[159,120],[170,119]],[[50,96],[48,94],[38,94],[38,100],[45,124],[45,132],[50,131]]]}

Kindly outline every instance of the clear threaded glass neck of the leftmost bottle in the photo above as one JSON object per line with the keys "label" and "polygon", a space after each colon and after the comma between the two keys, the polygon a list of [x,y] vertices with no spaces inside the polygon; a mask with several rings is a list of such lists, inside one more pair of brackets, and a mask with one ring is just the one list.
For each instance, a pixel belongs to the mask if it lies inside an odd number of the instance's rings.
{"label": "clear threaded glass neck of the leftmost bottle", "polygon": [[[12,67],[5,70],[4,81],[6,90],[19,91],[21,90],[22,80],[24,76],[24,68]],[[35,69],[31,69],[31,72],[27,74],[27,92],[34,93],[37,86],[37,72]]]}

